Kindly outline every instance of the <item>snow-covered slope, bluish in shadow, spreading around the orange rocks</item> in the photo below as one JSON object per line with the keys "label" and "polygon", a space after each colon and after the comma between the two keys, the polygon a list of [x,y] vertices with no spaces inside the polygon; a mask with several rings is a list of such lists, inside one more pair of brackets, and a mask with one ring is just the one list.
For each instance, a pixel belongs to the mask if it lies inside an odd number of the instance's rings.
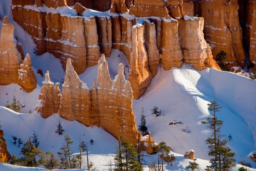
{"label": "snow-covered slope, bluish in shadow, spreading around the orange rocks", "polygon": [[[7,108],[0,107],[0,125],[4,129],[8,151],[19,154],[20,149],[13,145],[11,136],[21,138],[23,142],[32,136],[33,131],[39,136],[40,145],[43,151],[53,151],[55,154],[63,141],[63,136],[54,133],[56,124],[60,120],[65,129],[64,134],[69,134],[74,140],[73,150],[78,152],[78,139],[80,133],[84,141],[93,139],[95,143],[89,145],[89,158],[97,170],[108,170],[109,160],[113,160],[117,140],[108,132],[99,127],[86,127],[77,121],[67,121],[59,117],[58,114],[47,119],[41,118],[39,114],[27,114],[30,110],[34,112],[42,81],[44,80],[37,69],[50,71],[51,81],[62,82],[65,72],[60,60],[52,54],[45,53],[37,56],[35,44],[30,35],[24,31],[11,16],[11,0],[0,0],[0,15],[9,17],[10,23],[15,26],[15,37],[23,46],[24,53],[30,53],[32,57],[33,70],[37,76],[38,85],[33,92],[26,93],[17,84],[0,86],[0,106],[11,103],[12,97],[25,104],[18,114]],[[1,28],[2,21],[0,21]],[[112,50],[111,57],[106,59],[109,65],[111,79],[117,74],[117,66],[120,62],[128,64],[126,56],[119,50]],[[127,68],[124,68],[126,79],[128,79]],[[79,75],[80,79],[88,83],[89,87],[96,79],[97,66],[87,68]],[[222,72],[215,69],[205,69],[197,71],[190,65],[184,64],[182,68],[174,67],[165,71],[159,66],[156,77],[152,79],[151,85],[145,94],[139,99],[134,100],[134,113],[136,115],[137,126],[139,125],[141,108],[145,108],[147,116],[148,131],[151,132],[154,140],[159,143],[167,142],[173,149],[176,159],[173,166],[168,165],[167,170],[185,170],[186,165],[191,160],[182,156],[188,149],[195,150],[195,157],[200,158],[199,170],[204,170],[208,162],[207,145],[204,140],[210,136],[211,132],[201,125],[200,121],[210,116],[207,110],[207,103],[217,100],[223,107],[218,118],[224,120],[223,133],[228,136],[231,134],[233,140],[228,145],[236,152],[237,163],[241,160],[250,162],[255,168],[256,164],[247,156],[250,151],[256,149],[256,81],[246,77],[231,73]],[[163,116],[155,118],[151,114],[151,109],[158,106],[162,110]],[[181,121],[182,125],[168,125],[171,121]],[[188,129],[191,133],[184,133],[181,129]],[[84,134],[84,135],[83,135]],[[56,154],[57,155],[57,154]],[[205,160],[201,160],[205,159]],[[147,162],[157,161],[157,155],[146,158]],[[83,163],[86,165],[86,162]],[[238,168],[238,167],[237,167]],[[234,170],[237,170],[234,168]],[[0,170],[9,170],[8,165],[0,164]],[[22,168],[29,170],[28,168]],[[39,170],[30,168],[30,170]]]}

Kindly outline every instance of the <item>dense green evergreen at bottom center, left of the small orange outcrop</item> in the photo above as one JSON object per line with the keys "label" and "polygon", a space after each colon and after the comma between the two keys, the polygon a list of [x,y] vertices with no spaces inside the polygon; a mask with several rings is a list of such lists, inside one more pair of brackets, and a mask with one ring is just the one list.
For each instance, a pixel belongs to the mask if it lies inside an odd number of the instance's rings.
{"label": "dense green evergreen at bottom center, left of the small orange outcrop", "polygon": [[143,167],[137,161],[137,150],[129,141],[119,139],[119,148],[115,155],[114,171],[142,171]]}

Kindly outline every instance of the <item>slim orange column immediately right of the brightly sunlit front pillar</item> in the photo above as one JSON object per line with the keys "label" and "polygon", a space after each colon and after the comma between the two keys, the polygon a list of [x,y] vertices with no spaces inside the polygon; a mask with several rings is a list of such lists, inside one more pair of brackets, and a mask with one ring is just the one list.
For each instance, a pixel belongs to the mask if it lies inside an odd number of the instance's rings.
{"label": "slim orange column immediately right of the brightly sunlit front pillar", "polygon": [[146,49],[148,51],[148,65],[149,69],[152,72],[152,77],[156,76],[158,71],[158,64],[160,62],[160,54],[156,44],[156,26],[149,20],[145,20],[145,32],[147,41]]}

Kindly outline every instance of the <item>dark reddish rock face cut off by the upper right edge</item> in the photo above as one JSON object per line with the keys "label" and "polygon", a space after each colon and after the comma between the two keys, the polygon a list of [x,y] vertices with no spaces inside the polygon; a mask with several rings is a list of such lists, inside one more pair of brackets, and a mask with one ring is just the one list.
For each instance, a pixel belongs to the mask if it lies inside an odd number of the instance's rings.
{"label": "dark reddish rock face cut off by the upper right edge", "polygon": [[256,2],[250,0],[247,2],[247,13],[245,21],[245,48],[249,52],[250,61],[254,63],[256,70]]}

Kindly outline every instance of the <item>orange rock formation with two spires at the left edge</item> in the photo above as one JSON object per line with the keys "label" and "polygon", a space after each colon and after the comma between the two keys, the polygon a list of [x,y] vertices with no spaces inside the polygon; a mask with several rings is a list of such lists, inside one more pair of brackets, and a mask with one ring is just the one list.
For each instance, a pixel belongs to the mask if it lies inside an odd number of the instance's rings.
{"label": "orange rock formation with two spires at the left edge", "polygon": [[31,92],[37,86],[37,78],[32,71],[29,54],[22,63],[14,42],[14,26],[4,17],[0,37],[0,85],[11,83],[17,83],[26,92]]}

